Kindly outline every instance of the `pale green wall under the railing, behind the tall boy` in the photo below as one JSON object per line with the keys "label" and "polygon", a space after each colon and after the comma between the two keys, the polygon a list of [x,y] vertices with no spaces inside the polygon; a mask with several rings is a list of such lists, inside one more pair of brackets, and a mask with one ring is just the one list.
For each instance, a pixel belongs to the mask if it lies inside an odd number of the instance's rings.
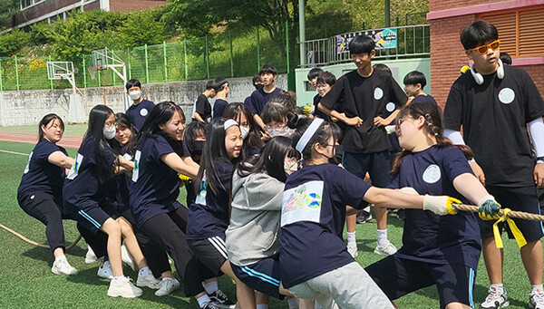
{"label": "pale green wall under the railing, behind the tall boy", "polygon": [[[375,63],[384,63],[389,66],[393,72],[393,77],[401,87],[403,85],[403,78],[408,72],[419,71],[425,74],[427,78],[427,85],[423,89],[424,92],[431,94],[431,61],[429,58],[417,58],[417,59],[401,59],[401,60],[376,60]],[[321,67],[323,71],[332,72],[335,74],[336,79],[344,75],[345,72],[349,72],[356,69],[354,63],[342,63],[335,65],[328,65]],[[311,68],[296,69],[296,104],[304,106],[307,103],[312,103],[314,96],[317,94],[316,90],[312,89],[308,83],[307,73]]]}

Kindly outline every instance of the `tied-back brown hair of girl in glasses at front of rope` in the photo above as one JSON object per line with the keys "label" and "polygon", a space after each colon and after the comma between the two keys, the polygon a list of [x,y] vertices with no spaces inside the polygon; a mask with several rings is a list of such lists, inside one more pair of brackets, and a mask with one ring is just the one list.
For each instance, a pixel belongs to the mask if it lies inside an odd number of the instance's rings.
{"label": "tied-back brown hair of girl in glasses at front of rope", "polygon": [[[436,138],[436,144],[440,147],[457,147],[465,155],[467,159],[472,159],[474,154],[469,146],[466,145],[453,145],[452,140],[444,136],[444,130],[442,128],[442,111],[438,105],[433,102],[424,101],[412,103],[406,105],[399,112],[397,120],[403,119],[403,117],[411,117],[413,119],[418,119],[423,117],[425,119],[426,126],[424,130]],[[398,121],[397,121],[398,129]],[[391,169],[391,174],[395,175],[401,170],[401,165],[403,164],[403,157],[409,154],[411,151],[403,150],[399,152],[396,157],[393,159],[393,166]]]}

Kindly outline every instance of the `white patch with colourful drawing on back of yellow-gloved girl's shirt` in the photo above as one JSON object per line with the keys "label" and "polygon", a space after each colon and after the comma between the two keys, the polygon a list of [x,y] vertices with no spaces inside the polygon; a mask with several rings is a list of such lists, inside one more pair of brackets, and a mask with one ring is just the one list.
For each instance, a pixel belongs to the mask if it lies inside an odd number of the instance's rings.
{"label": "white patch with colourful drawing on back of yellow-gloved girl's shirt", "polygon": [[319,223],[323,181],[309,181],[284,192],[281,209],[281,226],[299,221]]}

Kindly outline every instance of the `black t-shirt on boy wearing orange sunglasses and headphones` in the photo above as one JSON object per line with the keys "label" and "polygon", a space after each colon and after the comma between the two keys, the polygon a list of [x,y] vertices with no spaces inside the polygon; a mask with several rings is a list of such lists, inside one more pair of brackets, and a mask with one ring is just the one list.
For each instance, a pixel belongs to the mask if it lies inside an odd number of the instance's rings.
{"label": "black t-shirt on boy wearing orange sunglasses and headphones", "polygon": [[520,68],[504,66],[504,78],[483,76],[479,85],[470,73],[453,82],[444,110],[446,129],[463,130],[487,185],[534,186],[535,158],[527,123],[544,115],[539,90]]}

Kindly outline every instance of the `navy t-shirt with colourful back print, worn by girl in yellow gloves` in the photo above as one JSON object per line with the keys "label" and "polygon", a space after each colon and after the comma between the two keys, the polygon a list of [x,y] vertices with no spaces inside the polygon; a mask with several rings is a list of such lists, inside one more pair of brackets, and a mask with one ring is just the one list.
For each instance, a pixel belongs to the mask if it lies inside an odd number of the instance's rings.
{"label": "navy t-shirt with colourful back print, worn by girl in yellow gloves", "polygon": [[333,164],[306,165],[286,181],[279,262],[287,288],[354,261],[342,233],[345,206],[366,206],[371,185]]}

